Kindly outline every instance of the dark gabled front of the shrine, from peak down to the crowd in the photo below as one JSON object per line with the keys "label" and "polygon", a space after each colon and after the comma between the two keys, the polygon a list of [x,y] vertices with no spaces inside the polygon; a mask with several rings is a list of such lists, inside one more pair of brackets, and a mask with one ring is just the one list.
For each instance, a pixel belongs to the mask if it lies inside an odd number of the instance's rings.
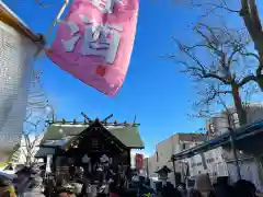
{"label": "dark gabled front of the shrine, from peak down to the crowd", "polygon": [[[70,167],[82,167],[91,183],[104,182],[110,178],[110,170],[128,174],[130,148],[95,120],[57,149],[54,161],[58,179],[69,181]],[[99,169],[102,172],[98,173]]]}

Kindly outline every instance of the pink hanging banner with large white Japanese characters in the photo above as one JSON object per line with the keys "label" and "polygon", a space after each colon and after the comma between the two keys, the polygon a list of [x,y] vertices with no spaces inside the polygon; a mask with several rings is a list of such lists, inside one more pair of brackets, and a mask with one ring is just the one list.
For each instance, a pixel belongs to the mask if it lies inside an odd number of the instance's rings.
{"label": "pink hanging banner with large white Japanese characters", "polygon": [[48,57],[85,84],[116,95],[132,56],[138,7],[138,0],[73,0]]}

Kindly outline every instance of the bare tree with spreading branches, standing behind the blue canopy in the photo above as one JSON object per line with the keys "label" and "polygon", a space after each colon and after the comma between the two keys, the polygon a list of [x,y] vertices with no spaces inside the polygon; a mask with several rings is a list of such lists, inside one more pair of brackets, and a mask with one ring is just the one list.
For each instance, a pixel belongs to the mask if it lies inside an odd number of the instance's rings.
{"label": "bare tree with spreading branches, standing behind the blue canopy", "polygon": [[[196,106],[203,107],[199,115],[206,114],[217,99],[232,97],[239,121],[247,124],[247,113],[242,103],[242,88],[255,77],[244,65],[250,40],[242,34],[227,27],[210,27],[199,23],[193,28],[199,40],[194,45],[182,44],[174,38],[178,54],[168,55],[182,66],[181,71],[188,74],[198,86],[201,100]],[[216,104],[220,101],[216,101]],[[204,108],[206,107],[206,108]]]}

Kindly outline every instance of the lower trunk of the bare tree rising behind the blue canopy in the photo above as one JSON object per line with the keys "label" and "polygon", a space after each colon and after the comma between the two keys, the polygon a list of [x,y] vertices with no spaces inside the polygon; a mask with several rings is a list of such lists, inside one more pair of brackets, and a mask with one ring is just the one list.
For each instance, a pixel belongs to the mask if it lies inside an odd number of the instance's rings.
{"label": "lower trunk of the bare tree rising behind the blue canopy", "polygon": [[239,124],[244,125],[244,124],[248,123],[247,112],[244,111],[243,105],[242,105],[242,101],[241,101],[240,92],[239,92],[239,86],[238,86],[238,84],[232,83],[231,88],[232,88],[233,103],[235,103],[235,107],[236,107],[238,118],[239,118]]}

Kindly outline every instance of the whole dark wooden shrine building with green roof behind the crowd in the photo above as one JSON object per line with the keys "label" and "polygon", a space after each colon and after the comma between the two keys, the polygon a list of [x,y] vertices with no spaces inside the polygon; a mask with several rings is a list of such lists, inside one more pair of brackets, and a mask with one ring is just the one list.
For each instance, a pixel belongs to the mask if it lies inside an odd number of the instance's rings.
{"label": "whole dark wooden shrine building with green roof behind the crowd", "polygon": [[82,179],[92,188],[106,188],[112,181],[114,187],[127,186],[132,175],[130,151],[144,149],[144,142],[138,124],[107,123],[108,117],[101,121],[85,117],[81,123],[50,123],[36,157],[44,158],[47,164],[52,158],[49,174],[56,185]]}

